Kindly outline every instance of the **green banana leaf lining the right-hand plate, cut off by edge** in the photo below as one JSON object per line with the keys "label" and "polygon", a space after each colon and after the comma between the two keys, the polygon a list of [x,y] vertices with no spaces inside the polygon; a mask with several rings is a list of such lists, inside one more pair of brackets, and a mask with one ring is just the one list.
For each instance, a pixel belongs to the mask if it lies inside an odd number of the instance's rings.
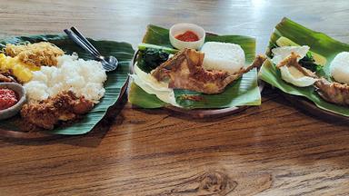
{"label": "green banana leaf lining the right-hand plate, cut off by edge", "polygon": [[[309,45],[310,50],[316,54],[321,54],[326,59],[324,64],[324,76],[331,78],[329,75],[329,65],[334,56],[343,51],[349,51],[349,44],[344,44],[334,40],[326,34],[315,32],[303,25],[294,23],[294,21],[284,18],[281,23],[275,26],[274,33],[271,35],[269,47],[266,54],[271,55],[270,48],[276,44],[280,37],[286,37],[295,44]],[[270,83],[274,87],[280,89],[284,93],[303,96],[311,100],[317,107],[333,113],[349,116],[349,108],[328,103],[315,92],[314,86],[297,87],[290,83],[285,83],[281,79],[279,70],[270,61],[266,61],[260,72],[259,77],[266,83]]]}

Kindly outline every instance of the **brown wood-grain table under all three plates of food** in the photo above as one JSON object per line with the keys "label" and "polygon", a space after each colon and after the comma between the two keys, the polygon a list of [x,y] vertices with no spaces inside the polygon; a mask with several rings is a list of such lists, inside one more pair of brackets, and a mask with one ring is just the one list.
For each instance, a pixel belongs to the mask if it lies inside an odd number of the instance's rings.
{"label": "brown wood-grain table under all three plates of food", "polygon": [[[179,22],[257,38],[264,52],[283,16],[349,42],[349,2],[0,1],[0,34],[61,33],[139,43],[148,24]],[[0,139],[0,195],[348,195],[349,129],[294,109],[267,89],[263,104],[190,120],[127,104],[108,132],[46,142]]]}

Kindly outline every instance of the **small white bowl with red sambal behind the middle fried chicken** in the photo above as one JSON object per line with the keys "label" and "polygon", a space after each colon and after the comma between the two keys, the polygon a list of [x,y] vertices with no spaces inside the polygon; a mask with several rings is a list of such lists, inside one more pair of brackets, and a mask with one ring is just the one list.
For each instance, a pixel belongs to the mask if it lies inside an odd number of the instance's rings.
{"label": "small white bowl with red sambal behind the middle fried chicken", "polygon": [[[175,38],[178,34],[184,34],[186,31],[192,31],[199,37],[199,40],[196,42],[184,42],[181,40],[178,40]],[[204,44],[204,37],[205,37],[205,31],[201,26],[194,25],[194,24],[188,24],[188,23],[181,23],[173,25],[170,28],[170,42],[171,44],[181,50],[184,48],[191,48],[191,49],[199,49]]]}

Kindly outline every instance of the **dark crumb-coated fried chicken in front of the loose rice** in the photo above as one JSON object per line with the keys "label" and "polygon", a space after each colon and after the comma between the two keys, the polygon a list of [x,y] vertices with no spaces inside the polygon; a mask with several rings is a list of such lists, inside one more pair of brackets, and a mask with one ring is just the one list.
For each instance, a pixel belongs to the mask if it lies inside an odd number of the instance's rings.
{"label": "dark crumb-coated fried chicken in front of the loose rice", "polygon": [[59,122],[73,121],[88,113],[94,103],[84,97],[76,97],[73,92],[63,92],[40,103],[27,103],[21,115],[25,122],[52,130]]}

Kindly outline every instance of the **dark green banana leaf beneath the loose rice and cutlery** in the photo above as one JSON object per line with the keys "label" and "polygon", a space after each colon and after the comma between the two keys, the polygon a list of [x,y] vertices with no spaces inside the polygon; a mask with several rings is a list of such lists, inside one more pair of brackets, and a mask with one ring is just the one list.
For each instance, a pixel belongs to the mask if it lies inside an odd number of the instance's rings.
{"label": "dark green banana leaf beneath the loose rice and cutlery", "polygon": [[[65,54],[72,54],[73,52],[76,52],[80,58],[85,60],[93,59],[64,34],[18,36],[1,40],[0,44],[2,47],[4,47],[5,44],[20,44],[25,42],[37,43],[41,41],[48,41],[56,44],[65,51]],[[130,61],[135,53],[132,45],[114,41],[95,41],[92,39],[89,39],[89,41],[95,45],[101,54],[114,55],[119,61],[117,69],[113,72],[107,73],[107,81],[105,82],[105,96],[101,99],[100,103],[95,105],[90,113],[87,113],[84,116],[81,121],[64,127],[58,126],[55,128],[55,130],[45,132],[65,135],[76,135],[90,132],[95,127],[97,122],[102,120],[108,108],[116,103],[122,87],[127,82]],[[0,128],[20,132],[21,126],[18,125],[18,121],[20,121],[18,115],[14,118],[0,121]]]}

